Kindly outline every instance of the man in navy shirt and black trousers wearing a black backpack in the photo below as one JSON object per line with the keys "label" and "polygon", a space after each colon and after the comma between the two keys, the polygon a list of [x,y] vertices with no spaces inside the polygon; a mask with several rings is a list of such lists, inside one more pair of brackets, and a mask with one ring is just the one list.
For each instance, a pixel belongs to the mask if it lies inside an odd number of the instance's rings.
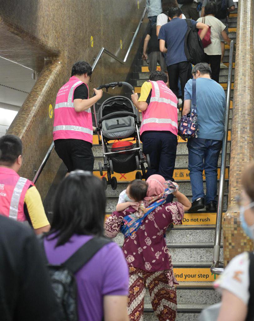
{"label": "man in navy shirt and black trousers wearing a black backpack", "polygon": [[[185,34],[187,32],[187,23],[182,20],[182,11],[179,7],[169,9],[170,22],[164,24],[159,32],[160,50],[167,53],[167,70],[169,74],[169,87],[179,98],[178,78],[180,78],[181,91],[184,92],[186,82],[191,78],[191,65],[188,62],[185,50]],[[200,38],[203,39],[208,30],[208,26],[202,22],[191,20],[197,29],[202,29]],[[167,48],[165,47],[167,44]],[[184,101],[184,95],[182,94]]]}

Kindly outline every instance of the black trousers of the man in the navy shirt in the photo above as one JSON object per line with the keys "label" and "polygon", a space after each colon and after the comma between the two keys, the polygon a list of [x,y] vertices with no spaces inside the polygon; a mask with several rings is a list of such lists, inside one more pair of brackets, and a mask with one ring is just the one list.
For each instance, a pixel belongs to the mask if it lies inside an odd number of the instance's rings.
{"label": "black trousers of the man in the navy shirt", "polygon": [[174,65],[167,66],[169,74],[169,88],[179,98],[178,78],[182,91],[182,100],[184,101],[184,87],[186,82],[191,79],[191,64],[188,61],[182,61]]}

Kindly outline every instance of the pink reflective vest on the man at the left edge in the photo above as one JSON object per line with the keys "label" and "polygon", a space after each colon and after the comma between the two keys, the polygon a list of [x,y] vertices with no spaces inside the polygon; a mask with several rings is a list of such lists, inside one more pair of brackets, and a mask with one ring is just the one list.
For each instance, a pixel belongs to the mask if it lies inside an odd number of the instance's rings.
{"label": "pink reflective vest on the man at the left edge", "polygon": [[26,221],[24,198],[30,185],[34,186],[13,169],[0,167],[0,214],[16,221]]}

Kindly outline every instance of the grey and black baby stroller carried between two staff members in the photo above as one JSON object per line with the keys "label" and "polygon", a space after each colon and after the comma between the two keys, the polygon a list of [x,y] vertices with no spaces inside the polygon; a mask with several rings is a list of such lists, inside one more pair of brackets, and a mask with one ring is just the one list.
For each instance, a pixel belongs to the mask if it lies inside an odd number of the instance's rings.
{"label": "grey and black baby stroller carried between two staff members", "polygon": [[[134,88],[127,82],[111,82],[101,85],[97,89],[114,88],[115,86],[127,86],[133,93]],[[95,110],[95,106],[94,106]],[[104,163],[98,162],[100,174],[107,171],[107,177],[102,177],[105,189],[111,185],[112,189],[117,188],[117,179],[111,174],[129,173],[136,169],[136,178],[145,178],[145,163],[150,166],[149,155],[144,156],[139,137],[140,118],[139,112],[132,104],[131,100],[124,96],[110,97],[103,102],[98,110],[97,119],[95,117],[99,144],[102,144]],[[126,139],[130,138],[129,140]],[[123,140],[122,144],[115,141]],[[136,143],[131,143],[131,141]],[[119,146],[121,145],[121,146]]]}

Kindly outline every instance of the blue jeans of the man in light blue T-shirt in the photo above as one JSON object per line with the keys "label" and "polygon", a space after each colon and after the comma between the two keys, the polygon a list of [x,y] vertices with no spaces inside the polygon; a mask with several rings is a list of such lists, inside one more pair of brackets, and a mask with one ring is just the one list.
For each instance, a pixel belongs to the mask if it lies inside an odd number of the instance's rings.
{"label": "blue jeans of the man in light blue T-shirt", "polygon": [[[222,141],[205,138],[189,138],[188,143],[192,202],[199,197],[206,205],[215,201],[217,195],[217,168]],[[203,188],[203,170],[206,175],[206,197]]]}

